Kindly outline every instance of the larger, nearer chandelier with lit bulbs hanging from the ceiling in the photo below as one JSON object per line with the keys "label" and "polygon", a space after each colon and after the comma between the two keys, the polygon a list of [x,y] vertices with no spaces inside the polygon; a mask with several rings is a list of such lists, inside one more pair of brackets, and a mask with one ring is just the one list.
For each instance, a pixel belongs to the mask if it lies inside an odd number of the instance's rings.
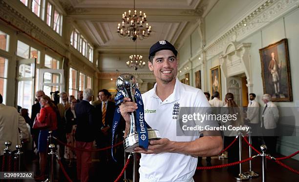
{"label": "larger, nearer chandelier with lit bulbs hanging from the ceiling", "polygon": [[120,37],[128,37],[130,40],[140,40],[146,39],[149,37],[151,32],[151,26],[147,23],[147,15],[142,14],[142,11],[137,15],[137,10],[135,9],[135,0],[134,0],[134,12],[128,10],[123,14],[122,24],[118,23],[117,33]]}

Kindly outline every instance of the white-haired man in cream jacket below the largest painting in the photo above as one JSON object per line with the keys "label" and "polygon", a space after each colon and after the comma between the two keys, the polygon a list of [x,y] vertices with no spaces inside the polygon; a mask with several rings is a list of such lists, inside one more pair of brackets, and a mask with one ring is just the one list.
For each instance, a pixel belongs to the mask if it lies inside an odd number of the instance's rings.
{"label": "white-haired man in cream jacket below the largest painting", "polygon": [[269,154],[276,153],[277,136],[275,136],[275,129],[278,124],[279,113],[275,103],[271,101],[269,94],[264,94],[262,101],[266,104],[262,112],[262,121],[260,127],[262,129],[263,139],[268,148]]}

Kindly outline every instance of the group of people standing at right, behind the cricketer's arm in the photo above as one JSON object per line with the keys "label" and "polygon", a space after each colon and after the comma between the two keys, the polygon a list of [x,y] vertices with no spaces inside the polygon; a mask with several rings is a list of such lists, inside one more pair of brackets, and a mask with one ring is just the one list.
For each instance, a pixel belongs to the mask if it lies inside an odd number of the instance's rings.
{"label": "group of people standing at right, behind the cricketer's arm", "polygon": [[[219,92],[215,91],[213,93],[212,99],[210,100],[210,93],[204,92],[206,98],[208,99],[211,107],[226,107],[227,109],[223,109],[224,112],[231,112],[231,114],[235,113],[243,113],[243,115],[238,115],[238,119],[236,122],[225,122],[224,125],[248,125],[250,126],[250,130],[254,136],[252,136],[252,144],[255,148],[259,148],[261,144],[265,144],[268,148],[267,153],[271,155],[276,154],[276,143],[277,137],[275,135],[275,130],[278,125],[279,112],[277,105],[271,101],[271,96],[269,94],[264,94],[261,97],[261,100],[265,104],[263,107],[261,117],[259,114],[259,103],[256,101],[256,94],[249,94],[249,103],[247,107],[241,108],[236,104],[234,100],[234,94],[227,93],[225,95],[224,101],[220,100]],[[243,111],[241,111],[243,109]],[[221,110],[221,109],[220,109]],[[222,110],[222,111],[223,111]],[[221,111],[218,111],[221,112]],[[223,114],[223,113],[222,113]],[[260,121],[261,118],[261,121]],[[219,122],[219,125],[223,123]],[[238,135],[238,132],[232,131],[224,131],[222,133],[224,136],[224,148],[226,148],[229,144],[231,144],[235,140],[235,136]],[[234,143],[227,150],[228,163],[235,162],[239,160],[239,145],[238,143]],[[198,158],[198,166],[202,166],[201,162],[202,158]],[[211,166],[211,157],[206,158],[207,166]],[[238,176],[239,168],[237,165],[228,167],[229,172],[232,173],[233,176]]]}

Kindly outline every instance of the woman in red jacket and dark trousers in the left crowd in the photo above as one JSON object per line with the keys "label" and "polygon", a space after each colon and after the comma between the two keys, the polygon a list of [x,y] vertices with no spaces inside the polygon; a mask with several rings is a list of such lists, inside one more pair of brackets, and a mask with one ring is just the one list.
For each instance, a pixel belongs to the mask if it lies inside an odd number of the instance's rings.
{"label": "woman in red jacket and dark trousers in the left crowd", "polygon": [[[49,117],[51,126],[47,129],[42,129],[39,134],[39,144],[38,151],[40,153],[40,175],[37,176],[36,180],[44,181],[45,177],[45,168],[47,164],[47,137],[49,136],[50,130],[54,131],[57,129],[57,115],[58,112],[57,107],[51,101],[51,99],[44,95],[41,99],[42,109],[40,113],[37,114],[37,120],[39,122],[45,122],[46,118]],[[54,134],[53,133],[53,134]]]}

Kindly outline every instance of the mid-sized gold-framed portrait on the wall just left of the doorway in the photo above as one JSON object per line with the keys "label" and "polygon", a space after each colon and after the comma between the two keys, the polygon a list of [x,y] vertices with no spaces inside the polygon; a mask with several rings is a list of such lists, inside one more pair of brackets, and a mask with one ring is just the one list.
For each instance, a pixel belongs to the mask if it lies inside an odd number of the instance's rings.
{"label": "mid-sized gold-framed portrait on the wall just left of the doorway", "polygon": [[211,80],[211,93],[213,94],[215,91],[219,92],[221,99],[221,74],[220,74],[220,66],[215,66],[211,68],[210,71],[210,80]]}

